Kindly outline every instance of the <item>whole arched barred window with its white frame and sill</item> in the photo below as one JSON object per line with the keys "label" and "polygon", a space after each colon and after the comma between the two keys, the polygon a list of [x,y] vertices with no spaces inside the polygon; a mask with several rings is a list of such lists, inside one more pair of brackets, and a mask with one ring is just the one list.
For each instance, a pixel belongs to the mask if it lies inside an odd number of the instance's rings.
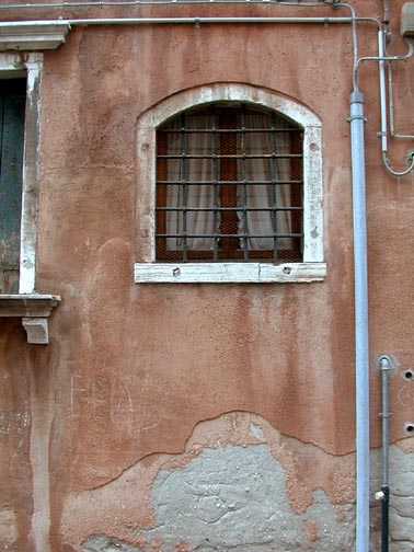
{"label": "whole arched barred window with its white frame and sill", "polygon": [[322,279],[321,124],[242,84],[181,92],[138,120],[136,281]]}

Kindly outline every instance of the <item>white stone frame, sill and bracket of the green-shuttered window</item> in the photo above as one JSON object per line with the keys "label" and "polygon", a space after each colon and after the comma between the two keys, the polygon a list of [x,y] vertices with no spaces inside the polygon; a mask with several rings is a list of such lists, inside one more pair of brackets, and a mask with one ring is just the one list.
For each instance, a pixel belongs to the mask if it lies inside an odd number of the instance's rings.
{"label": "white stone frame, sill and bracket of the green-shuttered window", "polygon": [[22,318],[27,342],[46,345],[47,318],[60,297],[35,291],[42,72],[41,53],[0,53],[0,79],[26,79],[19,294],[0,295],[0,317]]}

